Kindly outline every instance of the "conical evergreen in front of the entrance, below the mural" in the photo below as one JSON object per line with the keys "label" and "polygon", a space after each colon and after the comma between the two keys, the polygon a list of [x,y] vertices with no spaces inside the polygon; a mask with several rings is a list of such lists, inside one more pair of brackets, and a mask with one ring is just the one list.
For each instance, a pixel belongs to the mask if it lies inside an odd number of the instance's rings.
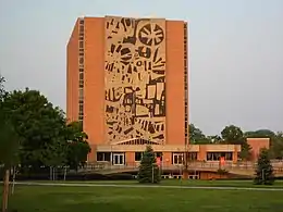
{"label": "conical evergreen in front of the entrance, below the mural", "polygon": [[139,183],[160,183],[160,172],[156,164],[156,155],[153,149],[148,146],[143,154],[137,179]]}

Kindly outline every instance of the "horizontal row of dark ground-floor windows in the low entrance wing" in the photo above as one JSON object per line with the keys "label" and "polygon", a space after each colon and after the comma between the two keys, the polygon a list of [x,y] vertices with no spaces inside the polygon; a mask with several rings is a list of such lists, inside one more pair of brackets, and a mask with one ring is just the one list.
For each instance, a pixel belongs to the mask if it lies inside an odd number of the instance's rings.
{"label": "horizontal row of dark ground-floor windows in the low entrance wing", "polygon": [[[111,154],[121,154],[116,152],[97,152],[97,161],[111,161]],[[144,152],[135,152],[135,161],[142,161]],[[155,152],[157,158],[160,158],[160,161],[162,161],[162,152]],[[124,157],[124,153],[123,153]],[[185,159],[187,158],[187,161],[197,161],[198,159],[198,152],[173,152],[172,153],[172,164],[181,165],[184,164]],[[224,158],[225,161],[232,161],[233,160],[233,153],[232,152],[207,152],[207,161],[219,161],[220,158]],[[124,161],[124,159],[123,159]]]}

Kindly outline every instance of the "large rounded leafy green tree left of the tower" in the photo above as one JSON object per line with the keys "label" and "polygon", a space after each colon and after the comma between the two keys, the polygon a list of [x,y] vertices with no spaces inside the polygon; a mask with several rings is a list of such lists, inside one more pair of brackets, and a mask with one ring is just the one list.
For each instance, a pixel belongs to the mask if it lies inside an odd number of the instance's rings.
{"label": "large rounded leafy green tree left of the tower", "polygon": [[65,161],[64,113],[37,90],[15,90],[3,100],[3,110],[21,137],[22,166],[37,170]]}

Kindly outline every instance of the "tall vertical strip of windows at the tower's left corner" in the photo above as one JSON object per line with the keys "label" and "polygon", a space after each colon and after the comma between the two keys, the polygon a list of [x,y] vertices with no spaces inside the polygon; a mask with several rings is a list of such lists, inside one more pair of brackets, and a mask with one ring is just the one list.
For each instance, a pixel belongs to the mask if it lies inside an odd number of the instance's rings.
{"label": "tall vertical strip of windows at the tower's left corner", "polygon": [[84,121],[84,20],[78,23],[78,121]]}

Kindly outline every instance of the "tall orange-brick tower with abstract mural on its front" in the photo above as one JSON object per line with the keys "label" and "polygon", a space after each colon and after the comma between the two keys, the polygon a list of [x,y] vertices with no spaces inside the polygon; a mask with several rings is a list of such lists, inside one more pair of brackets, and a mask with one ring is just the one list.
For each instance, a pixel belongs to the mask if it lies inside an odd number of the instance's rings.
{"label": "tall orange-brick tower with abstract mural on its front", "polygon": [[184,151],[187,46],[183,21],[77,20],[67,43],[66,115],[83,123],[89,161],[132,163],[146,145],[169,162]]}

